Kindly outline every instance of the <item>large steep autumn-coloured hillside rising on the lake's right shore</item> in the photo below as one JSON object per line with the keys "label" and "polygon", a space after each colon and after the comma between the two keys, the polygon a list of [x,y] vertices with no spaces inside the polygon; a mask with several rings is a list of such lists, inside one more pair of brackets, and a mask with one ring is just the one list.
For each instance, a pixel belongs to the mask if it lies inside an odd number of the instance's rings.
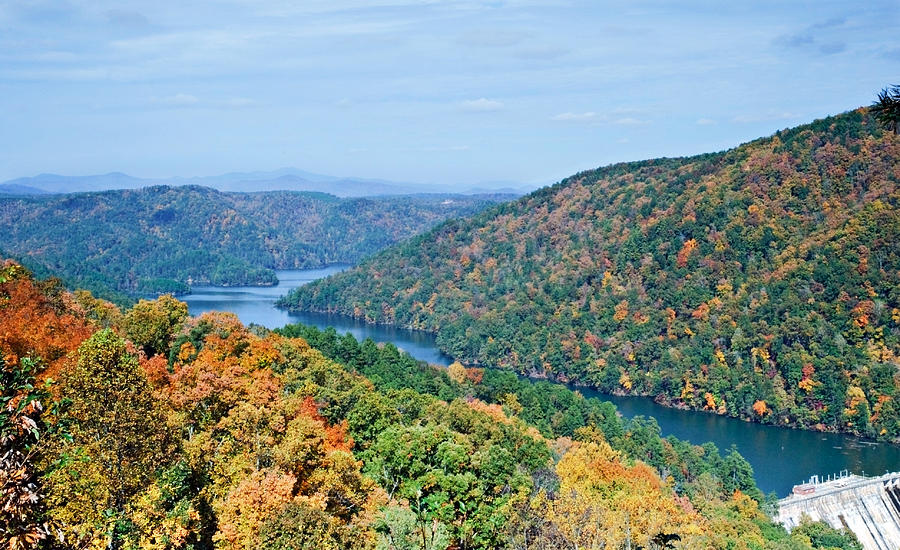
{"label": "large steep autumn-coloured hillside rising on the lake's right shore", "polygon": [[900,438],[900,138],[866,109],[616,164],[282,303],[436,332],[463,362]]}

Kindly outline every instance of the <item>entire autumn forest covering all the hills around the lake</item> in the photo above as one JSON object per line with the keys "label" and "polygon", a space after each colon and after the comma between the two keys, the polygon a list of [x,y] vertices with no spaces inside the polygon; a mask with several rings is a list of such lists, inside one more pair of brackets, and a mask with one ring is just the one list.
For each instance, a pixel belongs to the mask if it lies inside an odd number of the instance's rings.
{"label": "entire autumn forest covering all the hills around the lake", "polygon": [[[516,200],[0,199],[0,547],[861,550],[776,523],[735,447],[577,390],[900,441],[881,118]],[[357,265],[280,306],[427,331],[456,361],[175,295],[336,261]]]}

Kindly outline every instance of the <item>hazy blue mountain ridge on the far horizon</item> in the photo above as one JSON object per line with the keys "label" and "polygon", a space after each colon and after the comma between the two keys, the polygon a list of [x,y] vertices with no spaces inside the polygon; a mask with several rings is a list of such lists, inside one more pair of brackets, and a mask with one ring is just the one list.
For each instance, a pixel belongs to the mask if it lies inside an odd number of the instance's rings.
{"label": "hazy blue mountain ridge on the far horizon", "polygon": [[200,185],[228,192],[316,191],[338,197],[410,195],[419,193],[458,193],[464,195],[503,193],[523,195],[536,187],[510,182],[499,182],[498,184],[487,182],[470,188],[454,188],[449,185],[326,176],[296,168],[280,168],[272,171],[230,172],[218,176],[190,178],[137,178],[121,172],[90,176],[39,174],[0,183],[0,194],[76,193],[114,189],[139,189],[153,185]]}

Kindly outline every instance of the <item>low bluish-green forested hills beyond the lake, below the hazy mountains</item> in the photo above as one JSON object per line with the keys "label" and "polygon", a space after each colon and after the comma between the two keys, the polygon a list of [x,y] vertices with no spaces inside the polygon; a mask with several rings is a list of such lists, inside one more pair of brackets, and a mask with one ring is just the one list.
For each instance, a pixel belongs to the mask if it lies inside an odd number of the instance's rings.
{"label": "low bluish-green forested hills beyond the lake, below the hazy mountains", "polygon": [[191,186],[0,197],[0,253],[101,294],[184,291],[191,282],[271,284],[273,269],[355,263],[496,200]]}

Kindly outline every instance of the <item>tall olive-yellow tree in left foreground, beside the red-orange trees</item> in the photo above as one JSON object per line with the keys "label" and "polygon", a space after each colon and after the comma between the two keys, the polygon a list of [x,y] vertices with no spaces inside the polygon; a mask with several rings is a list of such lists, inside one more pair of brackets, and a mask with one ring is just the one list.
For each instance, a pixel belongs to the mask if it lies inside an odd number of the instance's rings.
{"label": "tall olive-yellow tree in left foreground, beside the red-orange trees", "polygon": [[79,545],[118,547],[115,524],[172,458],[165,408],[109,329],[78,348],[77,362],[62,371],[60,397],[69,403],[70,437],[54,452],[78,458],[54,465],[46,477],[50,515]]}

